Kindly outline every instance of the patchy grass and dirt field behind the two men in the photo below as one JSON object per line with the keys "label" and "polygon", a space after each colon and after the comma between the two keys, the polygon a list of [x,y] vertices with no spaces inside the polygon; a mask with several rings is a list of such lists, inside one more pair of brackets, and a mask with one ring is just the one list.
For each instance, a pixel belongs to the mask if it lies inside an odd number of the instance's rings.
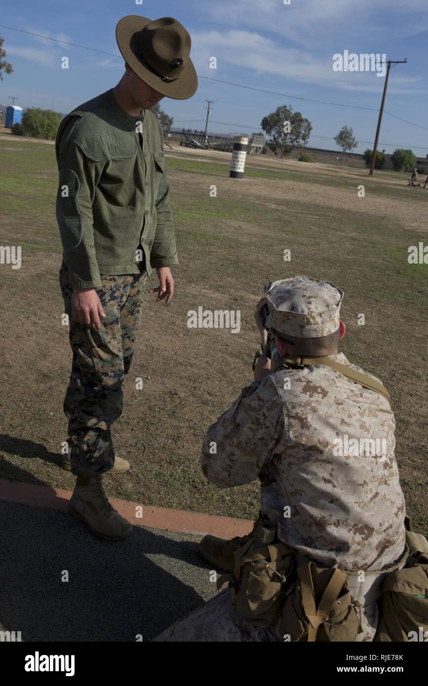
{"label": "patchy grass and dirt field behind the two men", "polygon": [[[342,349],[392,394],[407,510],[414,527],[427,532],[428,265],[409,264],[407,249],[427,244],[428,190],[406,187],[408,175],[371,179],[365,170],[263,158],[248,160],[245,178],[231,180],[229,164],[230,154],[167,150],[180,257],[176,295],[169,307],[146,296],[124,412],[113,428],[116,451],[132,466],[108,477],[108,493],[254,517],[258,484],[208,484],[200,445],[252,379],[253,311],[263,285],[305,274],[344,289]],[[53,146],[0,137],[0,174],[0,244],[23,250],[20,270],[0,265],[0,477],[72,488],[73,476],[58,466],[71,352],[61,324]],[[291,261],[283,259],[286,249]],[[189,329],[187,312],[199,306],[240,310],[241,332]]]}

